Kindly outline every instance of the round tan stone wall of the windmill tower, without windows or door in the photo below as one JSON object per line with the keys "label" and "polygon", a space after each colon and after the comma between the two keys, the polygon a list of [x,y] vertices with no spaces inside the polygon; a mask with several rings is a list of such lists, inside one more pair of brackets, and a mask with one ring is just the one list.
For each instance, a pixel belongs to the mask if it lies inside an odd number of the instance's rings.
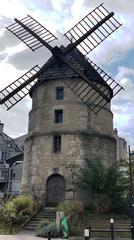
{"label": "round tan stone wall of the windmill tower, without windows or door", "polygon": [[[64,86],[64,99],[56,100],[55,88]],[[46,181],[54,173],[65,179],[65,198],[89,201],[87,193],[73,183],[75,172],[85,160],[98,157],[109,165],[115,160],[113,115],[110,106],[95,115],[62,80],[47,81],[33,91],[29,132],[25,142],[22,192],[37,195],[46,191]],[[54,111],[63,109],[63,123],[55,123]],[[53,152],[53,135],[61,135],[61,152]],[[81,192],[82,191],[82,192]],[[88,196],[88,197],[87,197]]]}

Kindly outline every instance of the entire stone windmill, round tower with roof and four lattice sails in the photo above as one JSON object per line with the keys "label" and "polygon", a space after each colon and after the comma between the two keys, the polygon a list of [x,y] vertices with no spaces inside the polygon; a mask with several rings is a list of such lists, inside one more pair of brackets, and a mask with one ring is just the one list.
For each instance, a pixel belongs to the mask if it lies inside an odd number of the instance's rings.
{"label": "entire stone windmill, round tower with roof and four lattice sails", "polygon": [[[33,51],[47,47],[52,57],[30,69],[0,92],[7,109],[30,90],[32,109],[25,142],[22,192],[45,193],[48,206],[64,199],[86,201],[86,194],[73,184],[74,172],[85,160],[101,156],[106,164],[115,159],[111,99],[121,86],[85,57],[120,27],[99,5],[65,36],[67,47],[51,47],[56,37],[31,16],[7,29]],[[101,110],[101,111],[100,111]]]}

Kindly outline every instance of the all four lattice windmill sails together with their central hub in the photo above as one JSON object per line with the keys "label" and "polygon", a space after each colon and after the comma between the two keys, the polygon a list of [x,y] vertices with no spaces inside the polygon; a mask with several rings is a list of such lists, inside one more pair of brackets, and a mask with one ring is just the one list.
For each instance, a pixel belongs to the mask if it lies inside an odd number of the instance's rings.
{"label": "all four lattice windmill sails together with their central hub", "polygon": [[[60,48],[51,46],[51,42],[57,38],[30,15],[21,20],[15,19],[15,23],[7,27],[7,29],[32,51],[44,46],[50,50],[52,57],[41,68],[38,65],[32,67],[20,78],[1,90],[0,104],[4,104],[7,110],[12,108],[29,93],[33,85],[40,81],[39,77],[43,72],[60,61],[83,80],[82,84],[79,85],[78,82],[75,83],[75,80],[72,82],[65,80],[65,84],[91,111],[97,114],[107,103],[111,102],[111,99],[122,87],[99,66],[88,59],[87,55],[120,26],[121,24],[115,19],[114,13],[110,13],[103,4],[100,4],[64,34],[70,44],[67,47]],[[76,48],[81,52],[81,61],[83,61],[84,57],[84,72],[68,60],[70,53],[74,61],[77,59],[78,52]],[[99,74],[100,81],[103,82],[102,85],[107,88],[104,88],[97,81],[90,81],[89,64],[91,69]]]}

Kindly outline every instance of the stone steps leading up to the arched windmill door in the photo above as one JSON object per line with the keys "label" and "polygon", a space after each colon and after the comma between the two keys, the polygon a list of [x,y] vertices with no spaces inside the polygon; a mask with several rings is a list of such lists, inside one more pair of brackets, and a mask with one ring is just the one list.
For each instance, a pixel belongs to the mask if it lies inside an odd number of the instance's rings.
{"label": "stone steps leading up to the arched windmill door", "polygon": [[38,227],[39,222],[42,220],[55,221],[56,209],[55,208],[43,208],[24,226],[25,230],[33,231]]}

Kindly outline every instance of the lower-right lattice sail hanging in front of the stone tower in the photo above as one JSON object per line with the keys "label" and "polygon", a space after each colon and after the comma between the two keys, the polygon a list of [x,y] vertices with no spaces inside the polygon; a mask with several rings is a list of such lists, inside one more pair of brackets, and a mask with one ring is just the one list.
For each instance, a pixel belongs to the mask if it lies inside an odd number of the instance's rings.
{"label": "lower-right lattice sail hanging in front of the stone tower", "polygon": [[[72,69],[72,76],[73,73],[75,73],[73,79],[70,77],[63,78],[64,83],[94,113],[99,112],[102,106],[110,103],[111,98],[113,97],[113,91],[106,81],[101,78],[100,74],[96,74],[96,80],[92,79],[91,75],[94,74],[83,74],[83,70],[86,69],[87,65],[90,67],[90,72],[96,72],[92,65],[89,65],[83,55],[81,58],[81,54],[78,51],[75,51],[75,53],[71,52],[69,55],[67,54],[66,57],[59,56],[59,58],[65,65]],[[80,66],[83,66],[84,68],[82,67],[83,69],[80,69]]]}

